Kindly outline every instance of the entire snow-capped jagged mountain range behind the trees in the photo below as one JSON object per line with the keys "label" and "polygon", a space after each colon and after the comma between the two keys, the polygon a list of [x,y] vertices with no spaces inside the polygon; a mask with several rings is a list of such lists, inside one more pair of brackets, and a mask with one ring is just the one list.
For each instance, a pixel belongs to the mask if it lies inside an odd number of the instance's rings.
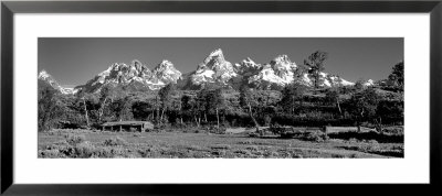
{"label": "entire snow-capped jagged mountain range behind the trees", "polygon": [[[99,92],[104,86],[124,86],[134,90],[158,90],[169,83],[177,84],[178,88],[182,90],[201,89],[210,84],[228,88],[249,85],[259,89],[272,89],[294,81],[313,86],[313,78],[308,70],[309,67],[296,65],[287,55],[278,55],[265,64],[255,63],[250,57],[233,64],[227,61],[222,50],[218,48],[211,52],[197,66],[196,70],[187,74],[181,74],[168,59],[161,61],[152,69],[134,59],[130,64],[114,63],[86,84],[74,88],[62,87],[45,70],[40,72],[39,80],[48,83],[62,94]],[[355,85],[339,76],[323,72],[320,79],[323,80],[320,86],[324,87]],[[372,83],[370,79],[364,85],[369,86]]]}

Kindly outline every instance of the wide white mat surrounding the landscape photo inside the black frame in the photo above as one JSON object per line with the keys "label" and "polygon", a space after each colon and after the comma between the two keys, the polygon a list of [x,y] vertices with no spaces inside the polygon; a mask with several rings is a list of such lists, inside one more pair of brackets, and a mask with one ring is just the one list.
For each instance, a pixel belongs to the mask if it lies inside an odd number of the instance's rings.
{"label": "wide white mat surrounding the landscape photo inside the black frame", "polygon": [[[15,13],[14,183],[429,183],[429,31],[428,13]],[[404,37],[404,159],[38,159],[38,37]]]}

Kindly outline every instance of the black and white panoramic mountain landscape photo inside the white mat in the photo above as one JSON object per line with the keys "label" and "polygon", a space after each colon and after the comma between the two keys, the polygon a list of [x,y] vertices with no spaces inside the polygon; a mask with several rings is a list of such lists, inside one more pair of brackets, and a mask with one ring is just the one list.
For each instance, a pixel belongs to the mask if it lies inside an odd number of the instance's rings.
{"label": "black and white panoramic mountain landscape photo inside the white mat", "polygon": [[403,159],[402,37],[40,37],[38,157]]}

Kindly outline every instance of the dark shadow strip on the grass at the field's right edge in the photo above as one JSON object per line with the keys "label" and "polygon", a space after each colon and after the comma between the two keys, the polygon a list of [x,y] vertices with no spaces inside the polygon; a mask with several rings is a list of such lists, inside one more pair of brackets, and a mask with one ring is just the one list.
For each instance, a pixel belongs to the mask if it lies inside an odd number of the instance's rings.
{"label": "dark shadow strip on the grass at the field's right edge", "polygon": [[379,143],[403,143],[403,134],[387,134],[377,132],[340,132],[340,133],[328,133],[330,139],[357,139],[357,140],[376,140]]}

